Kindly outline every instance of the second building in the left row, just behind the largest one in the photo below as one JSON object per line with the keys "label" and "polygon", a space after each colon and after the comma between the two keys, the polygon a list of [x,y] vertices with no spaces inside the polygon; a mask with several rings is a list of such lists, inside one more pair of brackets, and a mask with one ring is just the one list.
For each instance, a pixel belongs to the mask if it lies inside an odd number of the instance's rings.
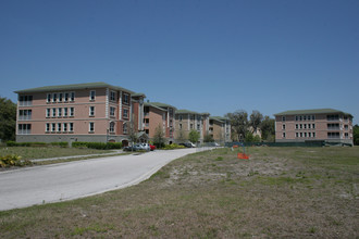
{"label": "second building in the left row, just behind the largest one", "polygon": [[163,130],[166,143],[174,142],[175,106],[160,102],[147,102],[144,105],[144,129],[150,139],[158,127]]}

